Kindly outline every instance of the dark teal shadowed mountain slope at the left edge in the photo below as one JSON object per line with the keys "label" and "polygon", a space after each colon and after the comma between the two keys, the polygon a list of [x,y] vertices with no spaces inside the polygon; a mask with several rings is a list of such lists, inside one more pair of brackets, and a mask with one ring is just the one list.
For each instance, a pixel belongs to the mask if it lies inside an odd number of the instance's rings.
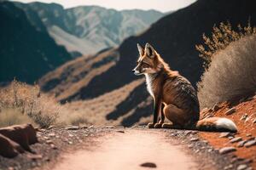
{"label": "dark teal shadowed mountain slope at the left edge", "polygon": [[41,29],[32,26],[24,11],[14,3],[0,2],[0,82],[16,78],[33,83],[72,59],[64,47],[49,37],[38,14],[32,16]]}

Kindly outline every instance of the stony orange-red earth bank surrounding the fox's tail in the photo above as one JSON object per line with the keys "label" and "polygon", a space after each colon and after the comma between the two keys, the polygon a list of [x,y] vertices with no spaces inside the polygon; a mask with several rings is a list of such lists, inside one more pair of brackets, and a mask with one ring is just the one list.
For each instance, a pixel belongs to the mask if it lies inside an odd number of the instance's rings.
{"label": "stony orange-red earth bank surrounding the fox's tail", "polygon": [[235,122],[237,133],[201,132],[199,135],[217,149],[234,147],[234,154],[241,157],[240,161],[249,161],[256,167],[256,96],[214,105],[202,115],[227,117]]}

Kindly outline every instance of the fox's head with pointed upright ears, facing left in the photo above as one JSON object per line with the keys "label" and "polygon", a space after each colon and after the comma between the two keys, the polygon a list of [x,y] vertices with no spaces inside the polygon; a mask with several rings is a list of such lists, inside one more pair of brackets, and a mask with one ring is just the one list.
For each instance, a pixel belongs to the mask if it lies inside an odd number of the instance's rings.
{"label": "fox's head with pointed upright ears, facing left", "polygon": [[146,43],[145,48],[137,43],[137,49],[139,58],[137,59],[137,66],[132,70],[135,75],[154,74],[164,67],[160,55],[149,43]]}

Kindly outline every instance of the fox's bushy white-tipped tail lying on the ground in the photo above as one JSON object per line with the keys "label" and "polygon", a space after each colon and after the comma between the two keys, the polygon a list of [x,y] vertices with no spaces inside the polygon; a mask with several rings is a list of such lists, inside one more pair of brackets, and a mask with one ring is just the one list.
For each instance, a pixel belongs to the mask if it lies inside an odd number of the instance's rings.
{"label": "fox's bushy white-tipped tail lying on the ground", "polygon": [[205,118],[196,123],[195,128],[200,131],[237,132],[237,127],[230,119],[223,117]]}

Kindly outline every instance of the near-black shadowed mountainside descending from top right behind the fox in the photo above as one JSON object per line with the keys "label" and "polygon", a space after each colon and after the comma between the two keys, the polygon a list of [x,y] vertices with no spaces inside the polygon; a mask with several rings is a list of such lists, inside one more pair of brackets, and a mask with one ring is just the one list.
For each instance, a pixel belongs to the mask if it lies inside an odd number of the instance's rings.
{"label": "near-black shadowed mountainside descending from top right behind the fox", "polygon": [[[113,54],[117,56],[116,63],[102,74],[90,77],[90,82],[79,86],[72,95],[65,96],[60,100],[65,102],[66,100],[85,99],[87,102],[90,99],[102,98],[102,95],[110,94],[113,90],[120,89],[136,80],[138,77],[134,76],[131,70],[136,65],[138,56],[137,42],[142,45],[145,42],[150,42],[173,70],[179,71],[195,86],[203,71],[202,61],[198,57],[199,53],[195,50],[195,44],[202,43],[202,34],[205,32],[210,35],[212,26],[218,25],[222,21],[229,20],[232,26],[238,24],[246,26],[248,19],[252,26],[256,25],[256,2],[253,0],[199,0],[187,8],[166,15],[143,34],[125,39],[119,48],[104,52],[108,56]],[[79,61],[73,60],[73,62]],[[79,70],[73,70],[73,72],[75,71]],[[48,76],[51,77],[54,72],[50,72]],[[66,72],[67,70],[63,70],[61,74]],[[86,77],[80,77],[79,80],[84,78]],[[40,81],[40,86],[50,93],[55,93],[59,86],[47,88],[49,80]],[[72,80],[73,78],[67,77],[61,82],[72,82]],[[114,94],[111,95],[114,98]],[[131,126],[135,122],[140,122],[143,117],[151,115],[153,111],[151,101],[152,99],[148,102],[145,84],[138,84],[121,103],[115,105],[114,111],[106,112],[105,117],[111,122],[122,119],[119,121],[120,124]],[[90,107],[93,106],[90,104]]]}

